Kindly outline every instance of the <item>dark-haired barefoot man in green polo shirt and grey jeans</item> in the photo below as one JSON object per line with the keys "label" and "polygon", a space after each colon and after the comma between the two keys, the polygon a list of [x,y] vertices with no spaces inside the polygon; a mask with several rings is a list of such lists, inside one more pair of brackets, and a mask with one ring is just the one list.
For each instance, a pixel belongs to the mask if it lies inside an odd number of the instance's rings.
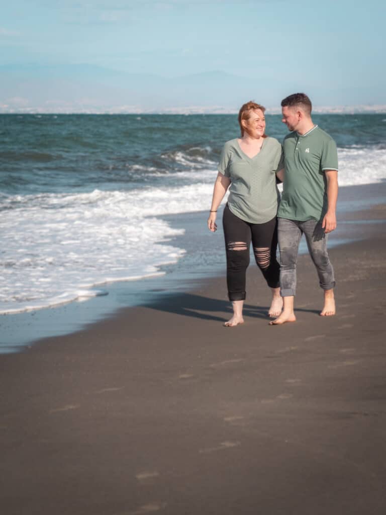
{"label": "dark-haired barefoot man in green polo shirt and grey jeans", "polygon": [[304,93],[282,100],[282,122],[290,131],[283,142],[284,192],[278,216],[280,295],[283,312],[272,325],[296,320],[296,260],[304,233],[324,290],[322,316],[335,315],[334,270],[328,259],[327,234],[337,227],[338,155],[334,140],[314,125],[311,101]]}

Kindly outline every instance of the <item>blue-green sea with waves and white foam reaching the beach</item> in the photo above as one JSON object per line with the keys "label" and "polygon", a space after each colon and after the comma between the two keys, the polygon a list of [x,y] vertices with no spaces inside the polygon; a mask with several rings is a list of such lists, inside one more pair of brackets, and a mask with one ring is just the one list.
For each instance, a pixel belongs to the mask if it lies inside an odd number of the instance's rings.
{"label": "blue-green sea with waves and white foam reaching the beach", "polygon": [[[266,119],[282,141],[280,115]],[[313,121],[337,142],[340,186],[386,180],[386,114]],[[234,114],[0,115],[0,314],[167,274],[186,253],[178,220],[208,211],[238,132]]]}

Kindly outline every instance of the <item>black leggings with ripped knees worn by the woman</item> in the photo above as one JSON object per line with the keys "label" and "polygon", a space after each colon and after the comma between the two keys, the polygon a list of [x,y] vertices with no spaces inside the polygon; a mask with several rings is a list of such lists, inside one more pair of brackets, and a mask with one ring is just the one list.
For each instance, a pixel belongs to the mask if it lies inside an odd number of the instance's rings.
{"label": "black leggings with ripped knees worn by the woman", "polygon": [[222,225],[226,250],[226,284],[229,300],[245,299],[245,273],[249,265],[249,247],[270,288],[279,287],[280,266],[276,260],[276,216],[265,224],[250,224],[234,215],[228,204],[224,208]]}

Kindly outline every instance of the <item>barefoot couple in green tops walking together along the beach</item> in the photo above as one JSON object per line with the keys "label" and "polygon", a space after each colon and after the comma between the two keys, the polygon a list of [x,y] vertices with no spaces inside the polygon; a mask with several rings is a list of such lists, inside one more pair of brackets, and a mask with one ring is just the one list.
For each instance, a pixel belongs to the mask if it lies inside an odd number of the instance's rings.
{"label": "barefoot couple in green tops walking together along the beach", "polygon": [[[238,116],[241,138],[226,142],[222,149],[208,228],[216,231],[217,209],[230,188],[223,213],[226,281],[233,307],[227,327],[244,321],[251,241],[256,263],[272,291],[270,324],[296,320],[296,261],[303,233],[324,291],[320,314],[335,315],[327,234],[337,226],[338,155],[331,136],[313,124],[311,110],[304,93],[282,100],[282,122],[291,131],[282,146],[265,133],[265,108],[247,102]],[[281,200],[277,182],[283,182]]]}

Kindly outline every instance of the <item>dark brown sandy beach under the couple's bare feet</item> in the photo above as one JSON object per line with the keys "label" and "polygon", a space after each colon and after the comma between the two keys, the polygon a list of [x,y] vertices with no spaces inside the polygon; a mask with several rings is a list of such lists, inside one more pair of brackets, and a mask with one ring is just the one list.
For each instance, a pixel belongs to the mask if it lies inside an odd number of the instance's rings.
{"label": "dark brown sandy beach under the couple's bare feet", "polygon": [[385,215],[345,219],[335,317],[305,255],[296,323],[250,267],[242,327],[220,277],[1,355],[2,512],[383,514]]}

